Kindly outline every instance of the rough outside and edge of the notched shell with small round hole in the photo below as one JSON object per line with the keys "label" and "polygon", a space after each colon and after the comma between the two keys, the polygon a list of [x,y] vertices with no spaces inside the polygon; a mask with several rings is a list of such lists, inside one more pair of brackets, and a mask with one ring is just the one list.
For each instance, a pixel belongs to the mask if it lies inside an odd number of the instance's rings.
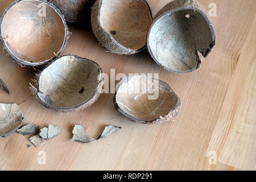
{"label": "rough outside and edge of the notched shell with small round hole", "polygon": [[[148,52],[150,53],[152,59],[162,68],[166,69],[167,71],[170,72],[175,72],[175,73],[187,73],[187,72],[192,72],[195,71],[196,69],[200,68],[201,63],[203,63],[204,59],[209,55],[209,53],[212,51],[212,48],[215,46],[215,41],[216,41],[216,35],[214,33],[213,30],[213,26],[212,26],[212,22],[210,20],[209,14],[208,12],[205,10],[205,8],[197,1],[197,0],[174,0],[170,3],[167,3],[167,5],[165,5],[154,17],[154,22],[152,23],[150,30],[152,28],[152,26],[154,26],[154,23],[161,18],[162,16],[166,15],[166,14],[171,14],[174,13],[175,11],[179,11],[179,10],[185,10],[185,9],[195,9],[197,11],[199,11],[204,18],[207,20],[208,25],[210,27],[210,30],[212,32],[212,38],[213,38],[213,42],[212,44],[209,45],[209,48],[207,50],[207,52],[205,52],[205,54],[203,56],[199,56],[198,53],[196,52],[196,56],[197,56],[197,67],[195,69],[191,69],[189,71],[175,71],[169,68],[164,67],[162,64],[159,63],[159,61],[155,58],[154,54],[151,51],[150,46],[147,44],[147,49]],[[149,31],[150,32],[150,31]],[[149,34],[148,34],[148,39],[149,39]]]}

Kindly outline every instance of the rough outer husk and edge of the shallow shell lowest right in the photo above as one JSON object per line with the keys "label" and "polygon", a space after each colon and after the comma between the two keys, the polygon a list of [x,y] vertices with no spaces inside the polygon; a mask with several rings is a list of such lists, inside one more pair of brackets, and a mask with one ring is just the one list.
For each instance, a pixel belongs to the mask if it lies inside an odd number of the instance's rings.
{"label": "rough outer husk and edge of the shallow shell lowest right", "polygon": [[[154,80],[157,80],[157,79],[154,79]],[[120,85],[123,84],[123,81],[124,81],[124,79],[121,78],[121,81],[118,83],[117,91],[115,92],[115,96],[114,96],[114,99],[113,99],[114,108],[118,113],[121,113],[121,114],[125,115],[125,117],[128,118],[130,121],[137,122],[137,123],[142,123],[142,124],[147,124],[147,125],[154,125],[154,124],[160,124],[160,123],[164,123],[164,122],[172,122],[177,117],[177,115],[179,115],[179,112],[180,112],[180,109],[181,109],[181,101],[180,101],[179,96],[177,96],[176,93],[171,89],[170,85],[168,85],[166,82],[164,82],[162,80],[158,80],[159,82],[162,82],[164,85],[166,85],[167,88],[175,94],[175,96],[177,97],[176,106],[173,109],[171,109],[169,111],[169,113],[167,113],[163,117],[159,117],[158,119],[155,119],[153,121],[143,121],[142,119],[132,117],[130,114],[128,114],[124,110],[122,110],[121,107],[119,107],[118,104],[117,104],[117,99],[116,99],[117,92],[118,92],[118,89],[119,89]]]}

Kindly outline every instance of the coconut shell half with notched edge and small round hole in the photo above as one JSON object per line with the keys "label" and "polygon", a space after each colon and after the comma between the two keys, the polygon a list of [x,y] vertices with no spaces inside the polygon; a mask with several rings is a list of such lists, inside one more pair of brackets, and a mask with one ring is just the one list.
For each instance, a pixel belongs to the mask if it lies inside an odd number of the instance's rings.
{"label": "coconut shell half with notched edge and small round hole", "polygon": [[215,45],[208,13],[196,0],[175,0],[156,14],[148,33],[148,51],[170,72],[191,72],[200,67]]}

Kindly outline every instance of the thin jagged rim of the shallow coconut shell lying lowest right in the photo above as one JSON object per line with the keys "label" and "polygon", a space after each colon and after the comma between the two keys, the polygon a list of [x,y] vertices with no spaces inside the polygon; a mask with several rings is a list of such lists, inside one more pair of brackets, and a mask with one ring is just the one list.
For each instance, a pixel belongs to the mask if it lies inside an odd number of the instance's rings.
{"label": "thin jagged rim of the shallow coconut shell lying lowest right", "polygon": [[[130,78],[132,78],[131,76],[127,76],[128,80],[130,80]],[[181,107],[181,100],[180,100],[180,97],[174,92],[174,90],[172,90],[171,86],[169,84],[167,84],[167,82],[165,81],[162,81],[162,80],[159,80],[159,79],[155,79],[154,80],[158,80],[160,82],[162,82],[164,85],[167,86],[167,88],[169,90],[171,90],[175,96],[177,97],[177,104],[175,105],[175,107],[173,109],[171,109],[166,115],[163,116],[164,117],[167,117],[168,114],[172,113],[173,111],[175,111],[176,109],[178,110],[178,113],[179,113],[179,110],[180,110],[180,107]],[[137,122],[137,123],[142,123],[142,124],[147,124],[147,125],[153,125],[155,123],[163,123],[165,122],[164,119],[161,119],[160,117],[157,118],[157,119],[154,119],[152,121],[144,121],[142,119],[138,119],[138,118],[134,118],[132,117],[130,114],[126,113],[124,110],[121,109],[121,107],[118,106],[117,104],[117,100],[116,100],[116,96],[117,96],[117,92],[118,92],[118,89],[119,87],[121,86],[121,84],[123,84],[123,77],[121,78],[121,80],[118,82],[118,85],[117,85],[117,91],[115,92],[115,95],[114,95],[114,99],[113,99],[113,102],[114,102],[114,107],[115,107],[115,110],[118,112],[118,113],[121,113],[123,114],[126,118],[130,119],[130,121],[133,121],[133,122]],[[160,119],[160,121],[159,121]]]}

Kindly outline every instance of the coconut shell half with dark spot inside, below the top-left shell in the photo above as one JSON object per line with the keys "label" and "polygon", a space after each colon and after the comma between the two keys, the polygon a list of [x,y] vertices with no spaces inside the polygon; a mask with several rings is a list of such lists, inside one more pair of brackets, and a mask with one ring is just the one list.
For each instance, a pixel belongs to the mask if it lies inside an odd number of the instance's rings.
{"label": "coconut shell half with dark spot inside, below the top-left shell", "polygon": [[38,74],[32,92],[44,106],[76,111],[92,105],[102,90],[102,69],[96,62],[75,55],[62,56]]}

